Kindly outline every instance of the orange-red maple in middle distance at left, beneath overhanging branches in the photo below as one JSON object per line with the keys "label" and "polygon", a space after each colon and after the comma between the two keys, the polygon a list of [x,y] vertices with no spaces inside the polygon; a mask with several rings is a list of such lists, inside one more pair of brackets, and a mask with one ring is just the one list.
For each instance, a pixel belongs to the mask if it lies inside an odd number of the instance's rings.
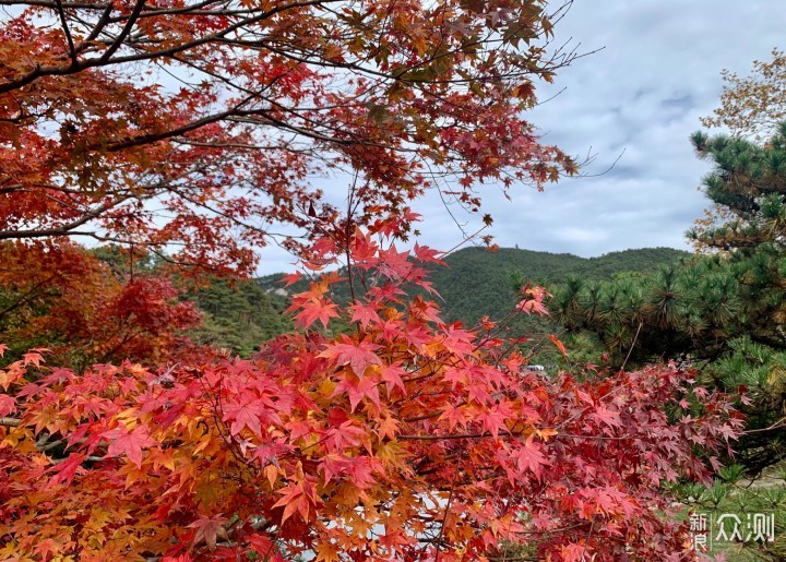
{"label": "orange-red maple in middle distance at left, beneath overhanging branches", "polygon": [[0,333],[11,358],[46,347],[50,363],[79,370],[205,352],[182,334],[199,322],[199,311],[154,272],[112,272],[69,242],[7,241],[0,261]]}

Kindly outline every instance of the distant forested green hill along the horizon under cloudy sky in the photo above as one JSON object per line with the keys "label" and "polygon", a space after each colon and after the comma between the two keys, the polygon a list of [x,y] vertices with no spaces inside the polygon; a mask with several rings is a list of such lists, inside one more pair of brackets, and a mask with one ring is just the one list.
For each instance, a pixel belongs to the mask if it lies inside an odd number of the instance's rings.
{"label": "distant forested green hill along the horizon under cloudy sky", "polygon": [[[436,267],[431,280],[444,299],[445,319],[474,323],[486,314],[501,318],[511,310],[515,304],[513,279],[516,277],[539,285],[561,283],[570,275],[610,279],[617,273],[653,271],[688,255],[671,248],[626,250],[588,259],[514,248],[495,252],[466,248],[445,259],[448,267]],[[269,275],[259,283],[269,294],[284,297],[287,294],[282,289],[281,277],[282,274]],[[307,282],[300,282],[289,287],[289,294],[307,287]],[[337,287],[336,292],[340,301],[348,297],[343,287]]]}

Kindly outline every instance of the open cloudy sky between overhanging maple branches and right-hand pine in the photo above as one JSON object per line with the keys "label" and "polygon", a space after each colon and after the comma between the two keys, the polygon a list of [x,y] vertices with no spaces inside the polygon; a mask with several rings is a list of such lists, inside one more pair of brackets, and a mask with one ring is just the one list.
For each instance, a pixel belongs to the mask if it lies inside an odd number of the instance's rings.
{"label": "open cloudy sky between overhanging maple branches and right-hand pine", "polygon": [[[545,142],[580,159],[596,157],[585,177],[543,193],[517,189],[509,202],[488,190],[496,242],[582,256],[688,249],[684,231],[706,206],[696,188],[708,170],[689,135],[717,107],[723,69],[743,75],[773,47],[786,48],[785,13],[773,0],[575,0],[556,28],[557,43],[602,50],[538,88],[540,99],[561,93],[532,121]],[[439,198],[415,210],[425,216],[421,244],[446,250],[462,240]],[[479,226],[479,217],[450,211],[467,231]],[[290,270],[291,262],[271,249],[260,273]]]}

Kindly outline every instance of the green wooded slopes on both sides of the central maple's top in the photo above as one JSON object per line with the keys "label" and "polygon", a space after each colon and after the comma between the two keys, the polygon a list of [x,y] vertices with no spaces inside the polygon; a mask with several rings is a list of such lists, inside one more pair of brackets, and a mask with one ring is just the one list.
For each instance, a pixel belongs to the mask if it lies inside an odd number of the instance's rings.
{"label": "green wooded slopes on both sides of the central maple's top", "polygon": [[[687,255],[690,254],[670,248],[626,250],[590,259],[514,248],[496,252],[466,248],[445,259],[448,267],[434,267],[431,279],[443,298],[443,318],[472,325],[487,314],[492,319],[504,318],[516,303],[516,284],[529,280],[553,287],[572,275],[611,279],[622,272],[654,271]],[[191,336],[201,344],[248,356],[261,342],[291,330],[283,311],[288,306],[288,296],[308,289],[309,280],[284,289],[282,276],[267,275],[234,287],[216,280],[210,288],[190,295],[188,298],[204,313],[203,325],[192,331]],[[349,299],[346,284],[334,286],[334,291],[335,300]],[[557,328],[551,322],[537,319],[520,319],[511,327],[520,334]]]}

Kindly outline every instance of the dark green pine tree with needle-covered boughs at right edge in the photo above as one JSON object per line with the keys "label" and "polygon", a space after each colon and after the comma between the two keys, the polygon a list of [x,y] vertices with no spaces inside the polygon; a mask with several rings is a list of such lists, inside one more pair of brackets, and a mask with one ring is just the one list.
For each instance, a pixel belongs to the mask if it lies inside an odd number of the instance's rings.
{"label": "dark green pine tree with needle-covered boughs at right edge", "polygon": [[681,360],[725,390],[748,388],[740,459],[759,471],[784,457],[786,412],[786,123],[765,144],[695,133],[713,164],[703,189],[723,219],[689,232],[710,251],[655,274],[572,279],[550,303],[617,368]]}

